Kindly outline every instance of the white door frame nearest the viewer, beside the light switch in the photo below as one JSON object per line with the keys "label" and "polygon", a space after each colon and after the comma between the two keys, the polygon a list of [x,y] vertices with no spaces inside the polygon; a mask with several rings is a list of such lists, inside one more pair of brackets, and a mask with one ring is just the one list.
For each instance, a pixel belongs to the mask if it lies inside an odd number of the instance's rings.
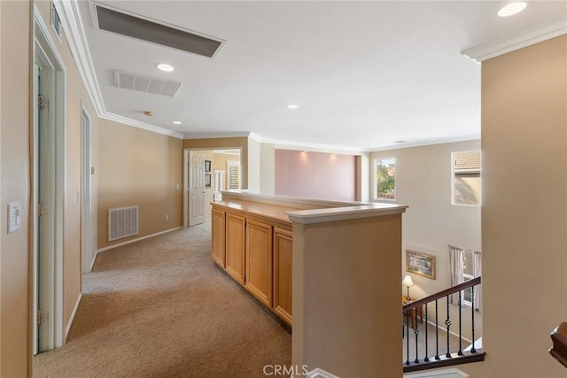
{"label": "white door frame nearest the viewer, beside the light switch", "polygon": [[[38,132],[38,108],[37,94],[39,89],[38,78],[33,78],[33,93],[31,99],[34,127],[32,130],[32,204],[30,204],[31,227],[31,243],[32,243],[32,282],[33,294],[30,297],[32,305],[32,322],[34,334],[34,354],[38,351],[47,351],[63,345],[64,342],[64,326],[63,326],[63,243],[64,243],[64,204],[65,204],[65,188],[66,188],[66,135],[65,135],[65,103],[66,103],[66,66],[63,58],[57,49],[57,45],[50,36],[49,27],[45,25],[43,19],[34,6],[34,51],[33,51],[33,68],[35,72],[35,63],[39,62],[52,71],[53,76],[52,88],[50,89],[50,109],[55,112],[52,117],[55,135],[55,146],[53,150],[53,158],[55,166],[49,174],[52,174],[55,181],[55,193],[50,204],[50,211],[54,212],[54,235],[53,248],[47,249],[48,255],[45,260],[48,264],[39,264],[38,256],[38,198],[39,198],[39,132]],[[40,287],[40,269],[42,273],[42,284]],[[45,287],[47,286],[47,287]],[[42,299],[43,298],[43,299]],[[42,337],[40,338],[40,330],[37,324],[37,313],[39,301],[44,300],[48,312],[48,316],[44,322],[42,329]]]}

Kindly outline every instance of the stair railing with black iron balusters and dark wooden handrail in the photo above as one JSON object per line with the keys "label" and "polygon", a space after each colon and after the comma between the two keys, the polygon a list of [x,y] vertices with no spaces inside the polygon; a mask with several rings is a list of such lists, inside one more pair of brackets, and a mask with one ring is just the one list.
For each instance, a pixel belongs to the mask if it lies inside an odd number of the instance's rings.
{"label": "stair railing with black iron balusters and dark wooden handrail", "polygon": [[[471,301],[472,303],[474,303],[474,296],[475,296],[475,287],[477,285],[479,285],[481,282],[480,277],[477,278],[473,278],[470,281],[467,282],[463,282],[460,283],[458,285],[455,285],[449,289],[445,289],[442,291],[439,291],[436,294],[432,294],[429,297],[424,297],[422,299],[418,299],[416,301],[412,301],[410,303],[408,303],[407,305],[403,306],[402,309],[402,313],[405,315],[404,316],[404,320],[405,320],[405,326],[402,328],[405,331],[405,349],[407,352],[407,358],[406,361],[403,362],[403,370],[404,373],[408,373],[408,372],[414,372],[417,370],[425,370],[425,369],[432,369],[435,367],[443,367],[443,366],[452,366],[452,365],[458,365],[458,364],[466,364],[466,363],[470,363],[470,362],[477,362],[477,361],[484,361],[485,359],[485,352],[481,350],[481,347],[479,347],[477,349],[477,345],[475,345],[476,343],[476,339],[475,339],[475,311],[474,309],[472,309],[472,311],[470,311],[470,316],[471,316],[471,320],[470,320],[470,324],[471,324],[471,333],[472,333],[472,345],[470,345],[469,348],[466,348],[465,350],[463,350],[462,348],[462,291],[465,289],[470,289],[471,291]],[[458,348],[457,346],[452,346],[451,342],[450,342],[450,333],[452,332],[452,328],[451,326],[454,326],[454,319],[451,318],[451,300],[450,297],[455,294],[455,293],[460,293],[459,294],[459,299],[458,299],[458,303],[457,303],[457,312],[458,312]],[[445,300],[444,300],[445,299]],[[430,323],[430,316],[429,316],[429,312],[428,312],[428,304],[434,304],[434,308],[435,308],[435,319],[431,320],[431,323],[433,323],[434,321],[434,334],[433,337],[435,337],[435,351],[429,351],[428,348],[428,341],[429,341],[429,333],[430,331],[428,330],[428,323]],[[447,317],[445,320],[443,321],[443,331],[447,332],[447,338],[445,338],[444,336],[439,336],[439,329],[441,329],[439,327],[439,305],[447,305]],[[417,322],[417,316],[418,316],[418,309],[421,309],[421,306],[425,306],[425,312],[424,312],[424,316],[423,313],[422,315],[422,320],[424,320],[423,322],[423,326],[421,328],[423,328],[423,333],[424,333],[424,341],[425,341],[425,346],[424,346],[424,351],[420,351],[419,350],[419,337],[420,334],[422,333],[422,329],[420,329],[419,323]],[[455,310],[453,310],[455,311]],[[409,320],[410,320],[410,315],[412,317],[415,317],[415,319],[413,319],[412,324],[415,325],[415,328],[413,328],[413,340],[410,341],[410,331],[409,331]],[[442,345],[439,345],[439,342],[442,343]],[[416,358],[413,360],[410,360],[410,344],[413,344],[413,356],[415,356]],[[432,354],[434,353],[434,354]]]}

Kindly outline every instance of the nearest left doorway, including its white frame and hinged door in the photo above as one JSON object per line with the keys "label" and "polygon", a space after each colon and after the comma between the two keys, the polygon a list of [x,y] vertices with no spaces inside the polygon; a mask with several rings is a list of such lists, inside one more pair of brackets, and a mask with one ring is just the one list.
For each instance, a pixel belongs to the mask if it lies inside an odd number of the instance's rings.
{"label": "nearest left doorway, including its white frame and hinged door", "polygon": [[63,345],[65,71],[49,28],[34,12],[33,333],[34,354]]}

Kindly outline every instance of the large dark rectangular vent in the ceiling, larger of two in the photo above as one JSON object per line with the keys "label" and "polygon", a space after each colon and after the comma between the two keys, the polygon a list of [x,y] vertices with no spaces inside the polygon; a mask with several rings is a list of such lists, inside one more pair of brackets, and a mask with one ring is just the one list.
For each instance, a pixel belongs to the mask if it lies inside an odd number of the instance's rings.
{"label": "large dark rectangular vent in the ceiling, larger of two", "polygon": [[214,55],[224,43],[221,39],[198,35],[189,30],[167,27],[148,19],[140,19],[100,5],[95,5],[95,10],[96,17],[93,20],[95,25],[102,30],[192,52],[204,57],[214,58]]}

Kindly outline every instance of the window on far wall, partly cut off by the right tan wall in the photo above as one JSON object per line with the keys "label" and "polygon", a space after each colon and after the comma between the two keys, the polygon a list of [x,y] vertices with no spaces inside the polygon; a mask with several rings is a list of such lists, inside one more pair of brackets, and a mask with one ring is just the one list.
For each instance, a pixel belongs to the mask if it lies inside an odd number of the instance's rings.
{"label": "window on far wall, partly cut off by the right tan wall", "polygon": [[452,204],[479,206],[481,199],[480,151],[454,152]]}

